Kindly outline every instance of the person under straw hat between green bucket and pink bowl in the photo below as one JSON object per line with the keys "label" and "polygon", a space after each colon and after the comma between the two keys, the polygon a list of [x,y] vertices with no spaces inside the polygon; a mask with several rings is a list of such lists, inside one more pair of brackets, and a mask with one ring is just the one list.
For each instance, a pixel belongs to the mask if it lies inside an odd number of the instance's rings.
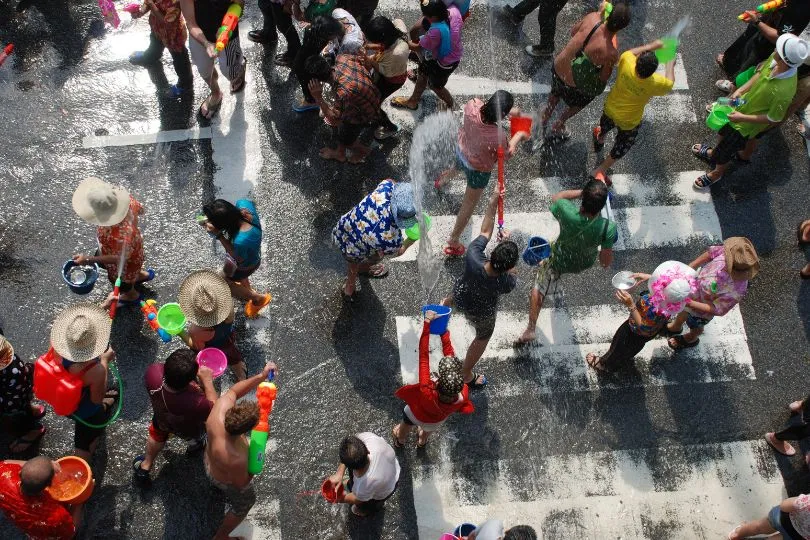
{"label": "person under straw hat between green bucket and pink bowl", "polygon": [[225,353],[237,381],[246,375],[245,361],[236,348],[233,298],[225,279],[210,270],[192,272],[180,284],[178,302],[191,323],[181,339],[199,352],[214,347]]}

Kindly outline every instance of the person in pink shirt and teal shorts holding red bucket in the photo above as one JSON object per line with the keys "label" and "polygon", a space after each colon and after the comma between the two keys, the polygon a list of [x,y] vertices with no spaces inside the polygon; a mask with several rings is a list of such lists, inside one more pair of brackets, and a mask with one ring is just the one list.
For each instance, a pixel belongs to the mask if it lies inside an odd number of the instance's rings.
{"label": "person in pink shirt and teal shorts holding red bucket", "polygon": [[[458,172],[463,172],[467,177],[467,189],[464,190],[456,225],[444,247],[447,256],[464,255],[466,248],[459,242],[459,237],[470,221],[484,188],[489,184],[492,168],[498,160],[498,147],[506,143],[506,130],[498,125],[498,120],[507,118],[509,114],[517,114],[517,110],[512,110],[513,103],[512,94],[498,90],[486,103],[473,98],[464,105],[464,124],[458,132],[456,166],[443,172],[435,183],[436,189],[441,189]],[[508,147],[504,148],[504,158],[512,157],[517,145],[528,138],[529,134],[524,131],[516,133],[509,140]]]}

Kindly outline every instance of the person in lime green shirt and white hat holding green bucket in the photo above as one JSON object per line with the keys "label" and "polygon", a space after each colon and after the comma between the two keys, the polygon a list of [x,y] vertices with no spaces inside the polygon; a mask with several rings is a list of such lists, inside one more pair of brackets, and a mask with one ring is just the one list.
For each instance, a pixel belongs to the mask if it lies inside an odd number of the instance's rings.
{"label": "person in lime green shirt and white hat holding green bucket", "polygon": [[807,59],[808,49],[806,41],[782,34],[776,40],[776,51],[762,63],[759,72],[731,94],[731,98],[742,98],[745,103],[728,115],[729,123],[720,129],[717,147],[692,146],[695,157],[714,167],[695,180],[695,189],[708,189],[720,181],[734,157],[747,162],[756,148],[756,139],[784,120],[796,93],[796,69]]}

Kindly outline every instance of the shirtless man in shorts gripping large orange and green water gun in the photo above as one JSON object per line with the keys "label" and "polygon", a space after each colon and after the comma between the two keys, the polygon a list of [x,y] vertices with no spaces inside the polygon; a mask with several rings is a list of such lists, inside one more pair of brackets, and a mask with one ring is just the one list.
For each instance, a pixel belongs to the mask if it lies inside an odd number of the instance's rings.
{"label": "shirtless man in shorts gripping large orange and green water gun", "polygon": [[230,538],[233,531],[256,503],[253,475],[247,471],[248,439],[246,435],[259,421],[255,401],[236,401],[267,379],[276,365],[268,362],[261,373],[234,384],[214,403],[205,423],[208,446],[205,449],[205,472],[211,483],[222,490],[230,507],[214,540]]}

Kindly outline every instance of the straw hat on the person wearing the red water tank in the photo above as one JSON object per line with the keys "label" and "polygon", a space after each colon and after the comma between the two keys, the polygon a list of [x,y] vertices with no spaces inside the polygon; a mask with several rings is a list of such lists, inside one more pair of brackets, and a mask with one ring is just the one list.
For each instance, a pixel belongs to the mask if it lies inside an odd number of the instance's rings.
{"label": "straw hat on the person wearing the red water tank", "polygon": [[107,350],[112,320],[95,304],[65,308],[53,321],[51,347],[71,362],[87,362]]}

